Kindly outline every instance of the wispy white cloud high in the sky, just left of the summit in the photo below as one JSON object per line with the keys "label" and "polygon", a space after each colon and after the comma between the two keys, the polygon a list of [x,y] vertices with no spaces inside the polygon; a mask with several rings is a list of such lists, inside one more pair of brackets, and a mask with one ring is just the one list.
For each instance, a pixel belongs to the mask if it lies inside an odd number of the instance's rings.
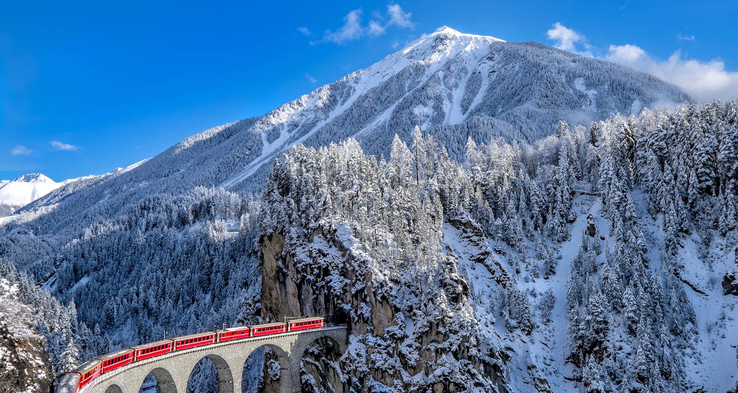
{"label": "wispy white cloud high in the sky, just left of the summit", "polygon": [[[400,29],[415,29],[415,24],[410,20],[413,14],[404,12],[399,4],[388,5],[386,17],[381,13],[374,12],[373,19],[367,25],[362,25],[362,13],[363,10],[360,8],[358,10],[352,10],[343,18],[342,27],[339,27],[335,31],[325,30],[323,32],[323,38],[320,41],[311,41],[310,44],[314,45],[326,42],[345,44],[348,41],[354,41],[365,35],[372,38],[379,37],[379,35],[384,35],[387,32],[387,28],[391,26]],[[302,29],[303,27],[300,27],[298,30],[303,32]],[[306,31],[309,32],[307,29]],[[306,34],[306,32],[303,32],[303,34]]]}

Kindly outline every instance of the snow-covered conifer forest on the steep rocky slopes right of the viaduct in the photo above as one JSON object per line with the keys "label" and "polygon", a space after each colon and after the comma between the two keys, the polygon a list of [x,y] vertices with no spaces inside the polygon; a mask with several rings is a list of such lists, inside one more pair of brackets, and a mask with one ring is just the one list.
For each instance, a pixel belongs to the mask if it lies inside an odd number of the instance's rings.
{"label": "snow-covered conifer forest on the steep rocky slopes right of the viaduct", "polygon": [[[737,109],[559,122],[533,145],[470,140],[463,164],[418,129],[387,159],[354,140],[297,147],[272,167],[261,238],[284,237],[283,264],[320,291],[303,310],[348,314],[356,389],[721,392],[736,354],[703,342],[735,339],[735,302],[700,320],[693,299],[734,242]],[[528,353],[503,354],[510,335]],[[704,375],[713,364],[731,371]]]}

